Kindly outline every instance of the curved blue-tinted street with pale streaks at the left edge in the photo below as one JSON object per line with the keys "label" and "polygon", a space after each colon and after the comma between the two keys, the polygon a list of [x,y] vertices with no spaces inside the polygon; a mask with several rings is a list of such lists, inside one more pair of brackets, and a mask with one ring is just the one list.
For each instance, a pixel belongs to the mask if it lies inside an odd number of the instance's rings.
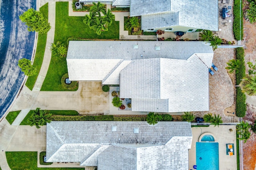
{"label": "curved blue-tinted street with pale streaks at the left edge", "polygon": [[29,8],[36,8],[36,0],[0,0],[0,118],[24,79],[18,60],[32,56],[35,33],[19,20]]}

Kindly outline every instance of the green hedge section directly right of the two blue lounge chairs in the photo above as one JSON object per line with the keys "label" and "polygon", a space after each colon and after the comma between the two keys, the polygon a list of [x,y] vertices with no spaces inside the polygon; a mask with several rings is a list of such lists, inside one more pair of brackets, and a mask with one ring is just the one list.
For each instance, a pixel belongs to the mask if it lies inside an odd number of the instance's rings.
{"label": "green hedge section directly right of the two blue lounge chairs", "polygon": [[236,48],[236,59],[240,60],[240,67],[236,73],[236,85],[239,85],[245,76],[245,63],[244,63],[244,48]]}

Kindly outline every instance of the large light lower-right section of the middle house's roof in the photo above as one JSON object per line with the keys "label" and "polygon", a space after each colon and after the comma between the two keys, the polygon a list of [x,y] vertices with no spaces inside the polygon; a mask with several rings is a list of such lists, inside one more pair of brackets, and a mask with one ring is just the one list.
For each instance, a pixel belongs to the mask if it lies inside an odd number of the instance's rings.
{"label": "large light lower-right section of the middle house's roof", "polygon": [[[196,55],[134,60],[120,72],[120,98],[136,99],[132,111],[207,111],[208,76],[208,67]],[[168,105],[159,99],[168,99]]]}

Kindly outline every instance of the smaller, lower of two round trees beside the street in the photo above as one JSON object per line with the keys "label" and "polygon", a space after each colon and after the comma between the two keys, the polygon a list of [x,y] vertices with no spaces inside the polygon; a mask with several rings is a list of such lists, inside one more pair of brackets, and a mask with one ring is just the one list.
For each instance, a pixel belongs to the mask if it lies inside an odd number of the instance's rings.
{"label": "smaller, lower of two round trees beside the street", "polygon": [[24,72],[27,76],[32,76],[36,74],[36,67],[31,64],[31,61],[26,58],[22,58],[18,62],[18,66],[21,68],[21,71]]}

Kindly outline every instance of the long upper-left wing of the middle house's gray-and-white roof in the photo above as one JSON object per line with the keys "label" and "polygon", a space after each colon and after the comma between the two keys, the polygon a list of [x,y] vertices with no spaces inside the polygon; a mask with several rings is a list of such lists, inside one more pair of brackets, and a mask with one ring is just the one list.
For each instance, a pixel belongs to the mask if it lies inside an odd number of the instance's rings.
{"label": "long upper-left wing of the middle house's gray-and-white roof", "polygon": [[[156,50],[156,47],[160,47],[160,50]],[[209,54],[206,59],[212,61],[212,47],[204,42],[154,41],[70,41],[66,60],[71,81],[108,79],[116,83],[118,73],[113,73],[113,69],[122,69],[128,64],[125,60],[160,57],[188,59],[194,53]],[[110,72],[115,76],[109,76]]]}

